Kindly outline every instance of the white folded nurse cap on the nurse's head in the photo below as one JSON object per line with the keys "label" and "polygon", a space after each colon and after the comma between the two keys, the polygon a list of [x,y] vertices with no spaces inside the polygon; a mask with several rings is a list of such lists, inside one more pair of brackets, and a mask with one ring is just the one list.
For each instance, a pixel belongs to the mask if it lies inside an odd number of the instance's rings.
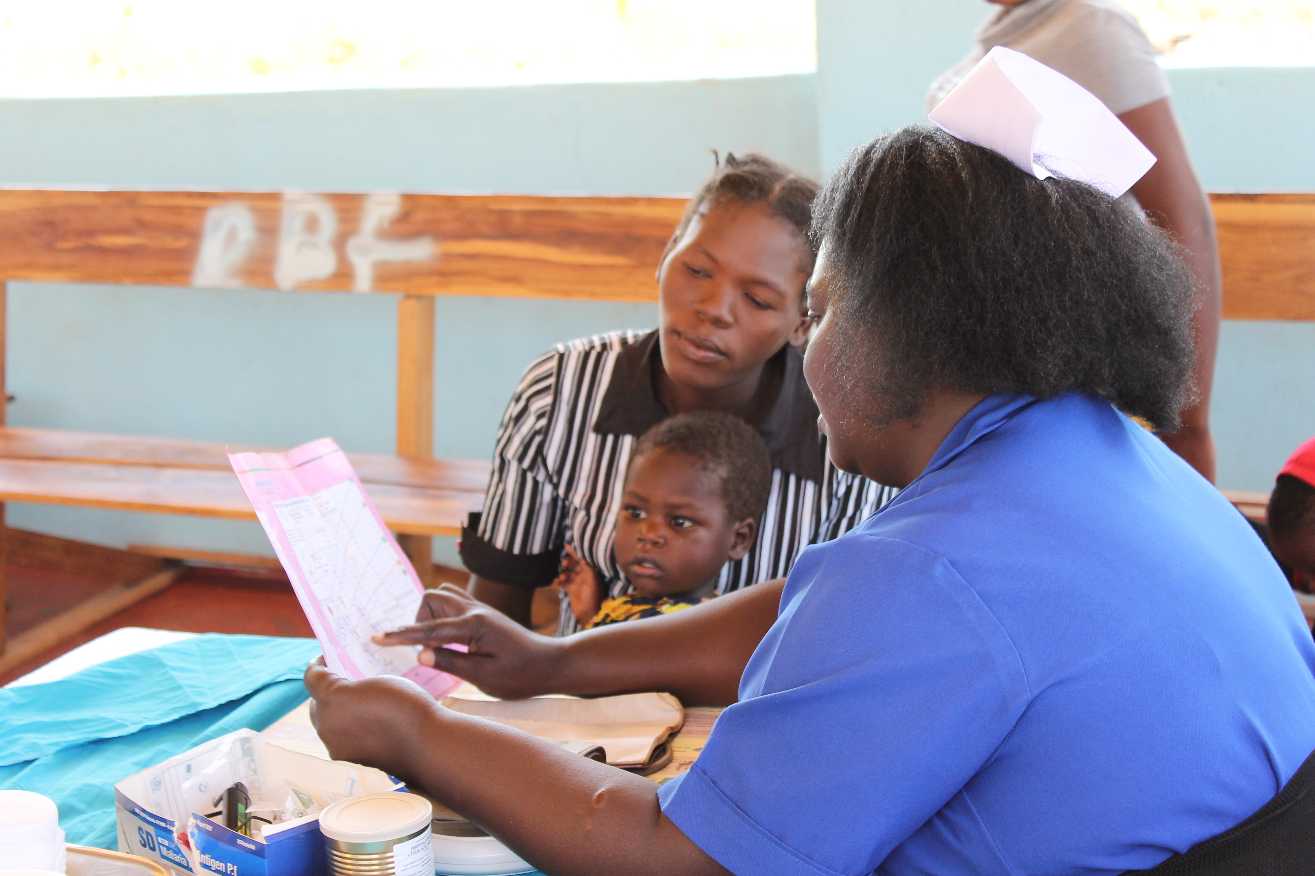
{"label": "white folded nurse cap on the nurse's head", "polygon": [[1039,180],[1064,176],[1119,197],[1155,164],[1101,99],[1027,55],[995,46],[928,118]]}

